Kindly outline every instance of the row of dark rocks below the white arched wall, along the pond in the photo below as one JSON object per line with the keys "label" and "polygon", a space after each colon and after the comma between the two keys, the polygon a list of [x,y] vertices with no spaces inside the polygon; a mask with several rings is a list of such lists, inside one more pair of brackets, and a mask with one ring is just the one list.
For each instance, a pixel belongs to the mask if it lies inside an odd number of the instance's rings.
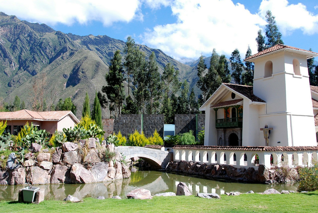
{"label": "row of dark rocks below the white arched wall, along the pond", "polygon": [[[167,170],[184,172],[193,175],[202,175],[206,177],[231,179],[236,181],[252,181],[258,183],[274,183],[282,182],[282,179],[277,178],[279,176],[277,173],[278,168],[275,170],[269,170],[264,164],[260,164],[258,170],[253,167],[250,168],[235,168],[231,165],[218,165],[211,163],[209,165],[203,163],[193,163],[192,161],[180,161],[180,162],[170,162]],[[290,169],[290,175],[287,179],[288,181],[296,181],[299,179],[298,173],[295,169]]]}

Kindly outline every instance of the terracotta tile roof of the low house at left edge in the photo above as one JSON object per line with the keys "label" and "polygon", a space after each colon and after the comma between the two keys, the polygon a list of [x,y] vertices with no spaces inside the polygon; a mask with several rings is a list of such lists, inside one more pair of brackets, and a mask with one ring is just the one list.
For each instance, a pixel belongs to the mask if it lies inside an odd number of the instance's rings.
{"label": "terracotta tile roof of the low house at left edge", "polygon": [[76,123],[79,119],[72,111],[45,111],[35,112],[31,110],[19,110],[15,112],[0,112],[0,120],[40,120],[40,121],[59,121],[70,115]]}

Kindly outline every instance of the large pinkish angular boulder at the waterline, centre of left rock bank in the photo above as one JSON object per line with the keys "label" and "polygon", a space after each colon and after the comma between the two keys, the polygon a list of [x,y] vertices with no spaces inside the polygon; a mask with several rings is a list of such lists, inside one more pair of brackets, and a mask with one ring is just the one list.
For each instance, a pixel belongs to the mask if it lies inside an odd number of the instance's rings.
{"label": "large pinkish angular boulder at the waterline, centre of left rock bank", "polygon": [[72,183],[93,183],[97,182],[93,173],[86,170],[82,164],[75,163],[72,165],[70,178]]}

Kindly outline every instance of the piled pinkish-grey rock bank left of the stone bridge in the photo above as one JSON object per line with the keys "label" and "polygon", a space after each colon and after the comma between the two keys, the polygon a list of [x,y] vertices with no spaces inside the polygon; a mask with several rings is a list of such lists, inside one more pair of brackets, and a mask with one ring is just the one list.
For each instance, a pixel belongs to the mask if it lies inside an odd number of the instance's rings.
{"label": "piled pinkish-grey rock bank left of the stone bridge", "polygon": [[[7,169],[0,170],[0,184],[27,184],[28,180],[33,184],[93,183],[128,178],[131,175],[128,166],[121,163],[123,156],[114,145],[107,145],[108,149],[115,152],[114,161],[102,162],[100,153],[107,149],[106,146],[100,146],[95,138],[81,140],[81,143],[84,145],[63,143],[61,148],[56,147],[52,156],[50,152],[46,152],[48,150],[42,150],[41,145],[39,147],[32,144],[30,150],[40,152],[27,153],[23,167],[19,164],[16,154],[11,153],[7,161]],[[96,145],[99,147],[96,148]],[[87,147],[92,148],[87,150]]]}

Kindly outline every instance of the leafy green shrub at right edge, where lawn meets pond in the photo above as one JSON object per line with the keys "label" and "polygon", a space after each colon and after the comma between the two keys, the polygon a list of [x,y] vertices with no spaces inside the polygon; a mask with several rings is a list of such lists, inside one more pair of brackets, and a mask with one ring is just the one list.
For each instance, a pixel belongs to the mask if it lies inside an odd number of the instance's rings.
{"label": "leafy green shrub at right edge, where lawn meets pond", "polygon": [[312,167],[299,168],[300,183],[298,191],[318,190],[318,163],[315,162]]}

